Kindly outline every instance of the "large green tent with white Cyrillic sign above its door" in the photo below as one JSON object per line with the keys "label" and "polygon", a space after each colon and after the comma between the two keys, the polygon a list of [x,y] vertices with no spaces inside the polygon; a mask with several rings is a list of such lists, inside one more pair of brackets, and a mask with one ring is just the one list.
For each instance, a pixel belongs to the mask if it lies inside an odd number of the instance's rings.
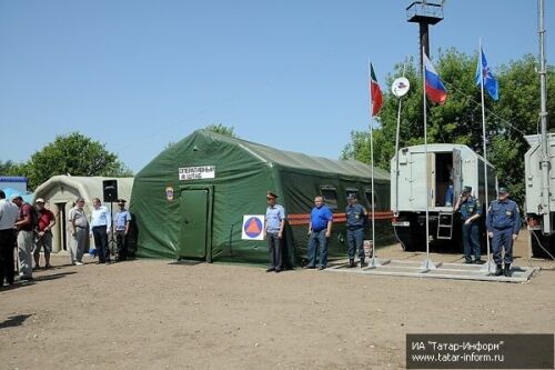
{"label": "large green tent with white Cyrillic sign above its door", "polygon": [[317,194],[334,212],[330,256],[344,257],[347,193],[357,193],[366,209],[374,200],[376,233],[391,240],[390,174],[374,169],[374,196],[370,176],[371,168],[359,161],[310,157],[194,131],[135,177],[130,209],[139,232],[138,254],[265,262],[266,243],[254,240],[261,224],[250,219],[251,230],[246,230],[244,220],[248,216],[263,219],[265,194],[272,190],[287,214],[287,264],[305,257],[309,214]]}

